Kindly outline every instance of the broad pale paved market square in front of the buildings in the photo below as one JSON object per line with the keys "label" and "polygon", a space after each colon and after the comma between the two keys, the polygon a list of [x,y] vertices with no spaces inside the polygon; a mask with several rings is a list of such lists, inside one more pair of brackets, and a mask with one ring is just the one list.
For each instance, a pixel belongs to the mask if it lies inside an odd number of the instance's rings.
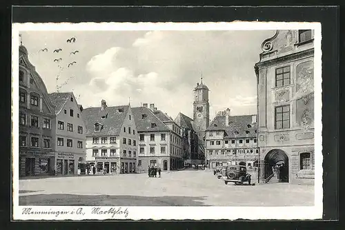
{"label": "broad pale paved market square in front of the buildings", "polygon": [[[255,175],[253,175],[255,179]],[[255,180],[253,180],[254,182]],[[20,180],[19,205],[306,206],[314,186],[224,184],[211,171]]]}

